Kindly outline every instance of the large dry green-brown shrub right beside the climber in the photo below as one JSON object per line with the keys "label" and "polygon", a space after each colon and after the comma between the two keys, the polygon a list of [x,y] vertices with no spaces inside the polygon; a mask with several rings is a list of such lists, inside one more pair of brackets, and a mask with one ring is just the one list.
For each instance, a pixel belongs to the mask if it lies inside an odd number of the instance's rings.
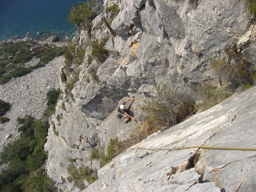
{"label": "large dry green-brown shrub right beside the climber", "polygon": [[161,128],[169,128],[182,122],[194,113],[191,100],[185,95],[168,91],[166,84],[158,86],[150,93],[150,99],[142,106],[145,134],[154,133]]}

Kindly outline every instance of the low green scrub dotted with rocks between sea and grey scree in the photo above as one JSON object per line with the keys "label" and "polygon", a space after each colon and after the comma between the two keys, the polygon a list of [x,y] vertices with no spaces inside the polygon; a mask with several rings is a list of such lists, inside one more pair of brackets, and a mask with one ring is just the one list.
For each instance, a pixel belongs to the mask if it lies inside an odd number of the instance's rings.
{"label": "low green scrub dotted with rocks between sea and grey scree", "polygon": [[[0,85],[13,77],[21,77],[36,68],[43,67],[56,56],[63,55],[65,46],[57,47],[36,42],[4,42],[0,44]],[[24,64],[32,58],[39,59],[38,64],[26,67]]]}

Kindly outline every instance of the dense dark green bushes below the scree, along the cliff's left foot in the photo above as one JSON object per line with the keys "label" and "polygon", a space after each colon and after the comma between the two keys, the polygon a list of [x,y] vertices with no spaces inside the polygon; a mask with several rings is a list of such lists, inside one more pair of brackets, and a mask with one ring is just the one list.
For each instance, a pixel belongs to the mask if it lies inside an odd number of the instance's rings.
{"label": "dense dark green bushes below the scree, along the cliff's left foot", "polygon": [[[48,112],[45,115],[54,112],[58,97],[56,93],[60,92],[48,92]],[[43,168],[47,159],[43,146],[48,136],[48,117],[44,116],[39,120],[30,115],[17,117],[17,122],[21,125],[18,132],[22,132],[20,139],[8,143],[0,152],[0,165],[8,165],[0,174],[0,191],[57,191],[54,181],[47,176]]]}

